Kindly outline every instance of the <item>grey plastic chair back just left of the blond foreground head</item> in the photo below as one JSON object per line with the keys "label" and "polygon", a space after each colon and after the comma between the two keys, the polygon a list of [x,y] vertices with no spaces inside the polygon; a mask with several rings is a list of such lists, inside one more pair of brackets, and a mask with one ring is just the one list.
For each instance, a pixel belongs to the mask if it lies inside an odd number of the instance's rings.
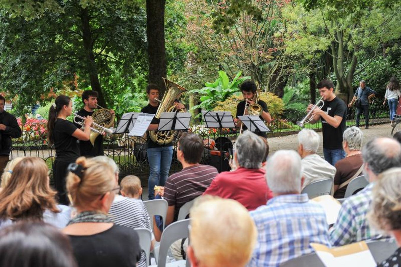
{"label": "grey plastic chair back just left of the blond foreground head", "polygon": [[[162,233],[162,238],[160,239],[160,249],[159,249],[159,261],[157,263],[158,267],[166,266],[166,258],[168,249],[170,248],[171,244],[182,238],[189,237],[189,225],[190,219],[180,220],[177,222],[173,222],[169,224]],[[187,266],[188,266],[188,257],[186,259]],[[189,265],[190,266],[190,265]]]}

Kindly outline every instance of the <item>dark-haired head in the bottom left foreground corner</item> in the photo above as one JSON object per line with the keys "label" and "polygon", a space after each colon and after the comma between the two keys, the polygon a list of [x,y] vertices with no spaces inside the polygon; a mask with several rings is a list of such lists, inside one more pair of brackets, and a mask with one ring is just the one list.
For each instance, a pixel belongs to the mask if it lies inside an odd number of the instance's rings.
{"label": "dark-haired head in the bottom left foreground corner", "polygon": [[67,236],[44,222],[19,222],[0,230],[0,266],[76,267]]}

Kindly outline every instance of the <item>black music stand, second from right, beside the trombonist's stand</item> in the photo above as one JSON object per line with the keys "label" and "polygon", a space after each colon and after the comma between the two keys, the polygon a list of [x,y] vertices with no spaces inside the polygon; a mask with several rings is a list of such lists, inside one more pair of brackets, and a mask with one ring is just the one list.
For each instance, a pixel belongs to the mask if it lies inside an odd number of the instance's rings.
{"label": "black music stand, second from right, beside the trombonist's stand", "polygon": [[[223,128],[235,128],[233,116],[230,111],[203,111],[203,123],[207,128],[219,128],[220,136]],[[228,151],[227,151],[228,152]],[[220,144],[220,170],[223,171],[224,161],[223,144]]]}

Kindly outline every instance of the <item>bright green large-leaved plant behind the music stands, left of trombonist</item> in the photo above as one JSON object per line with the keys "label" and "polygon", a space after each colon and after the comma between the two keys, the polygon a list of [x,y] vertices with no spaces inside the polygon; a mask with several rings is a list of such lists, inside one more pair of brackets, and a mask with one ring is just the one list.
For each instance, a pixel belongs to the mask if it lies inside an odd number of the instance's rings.
{"label": "bright green large-leaved plant behind the music stands, left of trombonist", "polygon": [[201,95],[201,104],[193,106],[192,109],[202,108],[203,110],[212,110],[217,103],[227,99],[228,96],[234,92],[238,92],[239,85],[251,77],[241,77],[241,71],[235,75],[234,79],[230,82],[227,73],[219,71],[219,78],[215,82],[205,83],[204,88],[191,90],[190,93],[198,93]]}

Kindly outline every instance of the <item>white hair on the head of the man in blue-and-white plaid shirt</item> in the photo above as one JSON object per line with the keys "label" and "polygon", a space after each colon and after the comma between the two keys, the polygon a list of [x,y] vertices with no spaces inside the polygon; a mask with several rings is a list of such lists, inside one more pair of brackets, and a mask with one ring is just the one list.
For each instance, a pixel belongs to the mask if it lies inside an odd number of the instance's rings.
{"label": "white hair on the head of the man in blue-and-white plaid shirt", "polygon": [[267,185],[274,193],[300,192],[301,157],[294,150],[279,150],[266,164]]}

